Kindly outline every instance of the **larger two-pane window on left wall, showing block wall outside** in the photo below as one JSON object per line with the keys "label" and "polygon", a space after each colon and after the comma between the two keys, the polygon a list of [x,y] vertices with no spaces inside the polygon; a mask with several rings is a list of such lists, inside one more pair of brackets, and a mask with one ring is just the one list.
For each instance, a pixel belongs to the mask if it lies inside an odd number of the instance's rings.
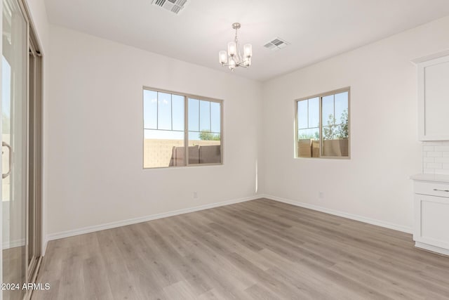
{"label": "larger two-pane window on left wall, showing block wall outside", "polygon": [[144,89],[143,124],[144,168],[222,163],[221,100]]}

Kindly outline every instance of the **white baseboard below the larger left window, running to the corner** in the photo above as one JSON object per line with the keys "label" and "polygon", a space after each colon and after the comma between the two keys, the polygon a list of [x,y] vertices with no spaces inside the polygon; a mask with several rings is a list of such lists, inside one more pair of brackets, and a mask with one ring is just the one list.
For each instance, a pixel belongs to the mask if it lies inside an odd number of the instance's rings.
{"label": "white baseboard below the larger left window, running to the corner", "polygon": [[[47,244],[48,241],[58,240],[58,239],[61,239],[64,237],[72,237],[74,235],[82,235],[84,233],[93,233],[95,231],[116,228],[116,227],[131,225],[131,224],[135,224],[135,223],[142,223],[142,222],[152,221],[152,220],[156,220],[156,219],[162,219],[162,218],[166,218],[168,216],[177,216],[180,214],[188,214],[188,213],[194,212],[194,211],[201,211],[204,209],[212,209],[214,207],[222,207],[222,206],[229,205],[229,204],[236,204],[236,203],[246,202],[246,201],[250,201],[250,200],[256,200],[259,198],[261,198],[260,195],[254,195],[252,197],[227,200],[224,202],[217,202],[217,203],[212,203],[212,204],[201,205],[199,207],[178,209],[175,211],[168,211],[168,212],[164,212],[161,214],[152,214],[149,216],[142,216],[142,217],[134,218],[134,219],[128,219],[128,220],[123,220],[123,221],[104,223],[104,224],[95,225],[95,226],[83,227],[83,228],[74,229],[74,230],[62,231],[60,233],[51,233],[46,236],[44,243]],[[45,248],[46,248],[46,246],[45,246]]]}

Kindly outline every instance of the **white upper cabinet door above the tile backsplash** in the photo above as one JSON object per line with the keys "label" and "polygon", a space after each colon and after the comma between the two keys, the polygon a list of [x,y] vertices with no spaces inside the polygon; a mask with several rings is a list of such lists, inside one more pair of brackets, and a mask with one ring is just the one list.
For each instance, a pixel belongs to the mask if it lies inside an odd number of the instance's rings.
{"label": "white upper cabinet door above the tile backsplash", "polygon": [[419,139],[449,140],[449,56],[423,61],[417,67]]}

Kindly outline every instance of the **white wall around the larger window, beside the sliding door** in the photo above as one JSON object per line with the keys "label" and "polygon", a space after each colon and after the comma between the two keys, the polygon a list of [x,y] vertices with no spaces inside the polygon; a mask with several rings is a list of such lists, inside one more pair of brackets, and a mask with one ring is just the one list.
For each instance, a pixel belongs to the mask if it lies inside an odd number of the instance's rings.
{"label": "white wall around the larger window, beside the sliding door", "polygon": [[[260,83],[62,27],[50,32],[48,234],[255,195]],[[142,86],[223,99],[224,165],[142,169]]]}

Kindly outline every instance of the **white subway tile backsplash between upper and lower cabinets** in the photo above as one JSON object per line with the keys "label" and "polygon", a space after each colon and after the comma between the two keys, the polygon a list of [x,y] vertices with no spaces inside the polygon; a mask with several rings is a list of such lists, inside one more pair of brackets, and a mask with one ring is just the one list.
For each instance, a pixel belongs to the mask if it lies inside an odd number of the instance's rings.
{"label": "white subway tile backsplash between upper and lower cabinets", "polygon": [[422,142],[422,171],[449,175],[449,141]]}

